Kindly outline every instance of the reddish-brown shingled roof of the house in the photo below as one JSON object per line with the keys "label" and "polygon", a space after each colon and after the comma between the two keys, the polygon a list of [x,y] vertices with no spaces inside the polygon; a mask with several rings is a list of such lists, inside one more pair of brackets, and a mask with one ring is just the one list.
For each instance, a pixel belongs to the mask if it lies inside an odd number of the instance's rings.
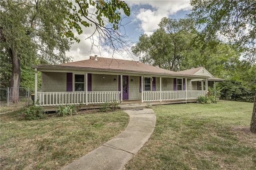
{"label": "reddish-brown shingled roof of the house", "polygon": [[184,71],[170,71],[162,69],[159,67],[154,67],[152,65],[147,65],[140,63],[138,61],[130,61],[124,59],[113,59],[113,58],[104,58],[104,57],[90,57],[90,59],[63,63],[58,65],[34,65],[32,68],[40,69],[39,71],[45,71],[47,69],[82,69],[90,71],[111,71],[111,72],[130,72],[130,73],[144,73],[151,75],[166,75],[166,76],[180,76],[180,77],[202,77],[208,78],[206,75],[195,75],[198,70],[203,67],[189,69]]}

